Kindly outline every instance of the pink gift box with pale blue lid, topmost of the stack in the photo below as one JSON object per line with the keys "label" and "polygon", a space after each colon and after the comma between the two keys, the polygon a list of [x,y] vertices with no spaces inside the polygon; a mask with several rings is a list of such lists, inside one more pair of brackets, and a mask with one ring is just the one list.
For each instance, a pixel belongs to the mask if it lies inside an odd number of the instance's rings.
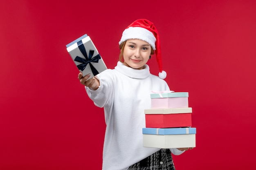
{"label": "pink gift box with pale blue lid, topmost of the stack", "polygon": [[188,92],[152,93],[151,108],[187,108],[189,107]]}

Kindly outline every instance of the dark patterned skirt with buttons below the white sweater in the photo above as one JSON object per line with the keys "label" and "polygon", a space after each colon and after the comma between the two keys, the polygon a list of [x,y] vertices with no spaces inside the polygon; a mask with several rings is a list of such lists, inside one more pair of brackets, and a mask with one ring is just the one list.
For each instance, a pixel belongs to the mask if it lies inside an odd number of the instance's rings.
{"label": "dark patterned skirt with buttons below the white sweater", "polygon": [[175,170],[170,149],[161,149],[130,166],[128,170]]}

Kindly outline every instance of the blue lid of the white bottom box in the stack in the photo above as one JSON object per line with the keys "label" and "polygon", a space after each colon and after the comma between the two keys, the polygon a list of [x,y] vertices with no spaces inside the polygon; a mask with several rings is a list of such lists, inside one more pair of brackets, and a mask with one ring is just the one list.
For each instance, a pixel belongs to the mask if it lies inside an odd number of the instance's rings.
{"label": "blue lid of the white bottom box in the stack", "polygon": [[150,135],[196,134],[196,128],[142,128],[142,133]]}

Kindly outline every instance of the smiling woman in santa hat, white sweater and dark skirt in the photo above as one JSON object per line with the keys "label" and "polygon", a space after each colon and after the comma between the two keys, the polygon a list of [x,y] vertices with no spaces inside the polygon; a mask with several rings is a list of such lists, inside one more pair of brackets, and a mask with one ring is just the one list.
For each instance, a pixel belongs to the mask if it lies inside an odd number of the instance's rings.
{"label": "smiling woman in santa hat, white sweater and dark skirt", "polygon": [[[189,148],[143,147],[144,109],[151,108],[151,91],[170,90],[164,81],[157,29],[145,19],[130,24],[119,42],[121,50],[115,69],[107,69],[88,79],[79,73],[81,84],[98,107],[103,107],[106,134],[103,170],[175,170],[171,153],[180,155]],[[159,78],[146,64],[157,57]]]}

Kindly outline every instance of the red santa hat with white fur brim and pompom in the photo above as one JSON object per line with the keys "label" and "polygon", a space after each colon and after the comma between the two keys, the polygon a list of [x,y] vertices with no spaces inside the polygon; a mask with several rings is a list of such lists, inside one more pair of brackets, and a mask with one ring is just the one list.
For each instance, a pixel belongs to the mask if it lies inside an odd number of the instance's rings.
{"label": "red santa hat with white fur brim and pompom", "polygon": [[159,77],[166,78],[166,72],[162,70],[162,57],[160,50],[160,40],[156,27],[152,22],[146,19],[139,19],[132,22],[124,30],[119,45],[130,39],[139,39],[150,44],[155,51],[157,64],[159,67]]}

